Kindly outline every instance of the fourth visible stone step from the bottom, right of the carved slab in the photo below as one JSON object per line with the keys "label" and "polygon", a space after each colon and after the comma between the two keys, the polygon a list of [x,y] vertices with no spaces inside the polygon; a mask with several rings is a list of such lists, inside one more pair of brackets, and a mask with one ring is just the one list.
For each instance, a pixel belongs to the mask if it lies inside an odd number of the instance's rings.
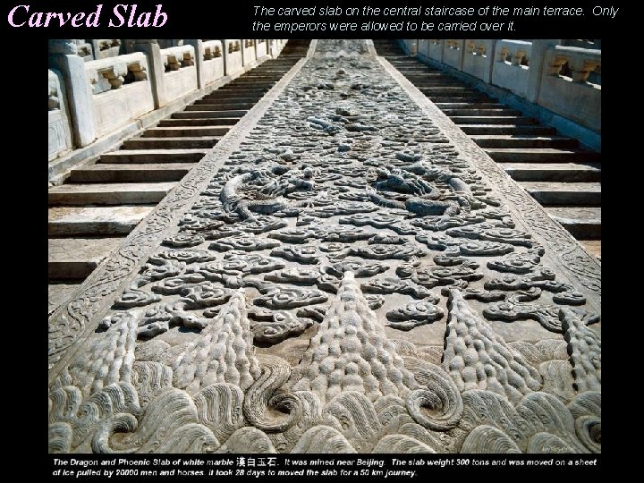
{"label": "fourth visible stone step from the bottom, right of the carved slab", "polygon": [[499,163],[515,181],[600,182],[599,163]]}

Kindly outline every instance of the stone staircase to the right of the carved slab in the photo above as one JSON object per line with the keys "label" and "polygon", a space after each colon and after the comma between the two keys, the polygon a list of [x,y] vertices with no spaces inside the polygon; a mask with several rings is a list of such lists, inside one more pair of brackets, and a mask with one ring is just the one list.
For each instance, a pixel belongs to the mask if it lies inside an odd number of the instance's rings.
{"label": "stone staircase to the right of the carved slab", "polygon": [[601,153],[501,104],[445,71],[374,39],[394,65],[589,252],[601,257]]}

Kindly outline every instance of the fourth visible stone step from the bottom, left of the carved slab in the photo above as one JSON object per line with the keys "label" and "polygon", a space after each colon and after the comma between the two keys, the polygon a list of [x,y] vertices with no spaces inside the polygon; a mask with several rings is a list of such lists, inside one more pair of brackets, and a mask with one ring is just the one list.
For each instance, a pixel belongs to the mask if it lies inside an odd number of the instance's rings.
{"label": "fourth visible stone step from the bottom, left of the carved slab", "polygon": [[63,184],[49,188],[50,206],[144,205],[158,203],[176,182]]}

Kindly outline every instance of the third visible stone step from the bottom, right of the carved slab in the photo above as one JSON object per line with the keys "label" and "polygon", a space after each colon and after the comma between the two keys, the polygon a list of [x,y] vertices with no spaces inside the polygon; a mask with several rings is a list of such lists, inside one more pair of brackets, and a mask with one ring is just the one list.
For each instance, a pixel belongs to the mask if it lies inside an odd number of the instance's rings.
{"label": "third visible stone step from the bottom, right of the carved slab", "polygon": [[601,205],[600,182],[519,182],[542,205]]}

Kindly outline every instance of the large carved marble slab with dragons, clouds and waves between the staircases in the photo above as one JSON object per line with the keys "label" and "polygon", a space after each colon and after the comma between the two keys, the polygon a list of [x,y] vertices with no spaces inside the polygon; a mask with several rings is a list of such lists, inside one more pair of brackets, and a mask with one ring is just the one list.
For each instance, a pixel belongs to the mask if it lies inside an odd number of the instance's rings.
{"label": "large carved marble slab with dragons, clouds and waves between the staircases", "polygon": [[419,99],[318,41],[50,319],[50,451],[601,451],[597,262]]}

